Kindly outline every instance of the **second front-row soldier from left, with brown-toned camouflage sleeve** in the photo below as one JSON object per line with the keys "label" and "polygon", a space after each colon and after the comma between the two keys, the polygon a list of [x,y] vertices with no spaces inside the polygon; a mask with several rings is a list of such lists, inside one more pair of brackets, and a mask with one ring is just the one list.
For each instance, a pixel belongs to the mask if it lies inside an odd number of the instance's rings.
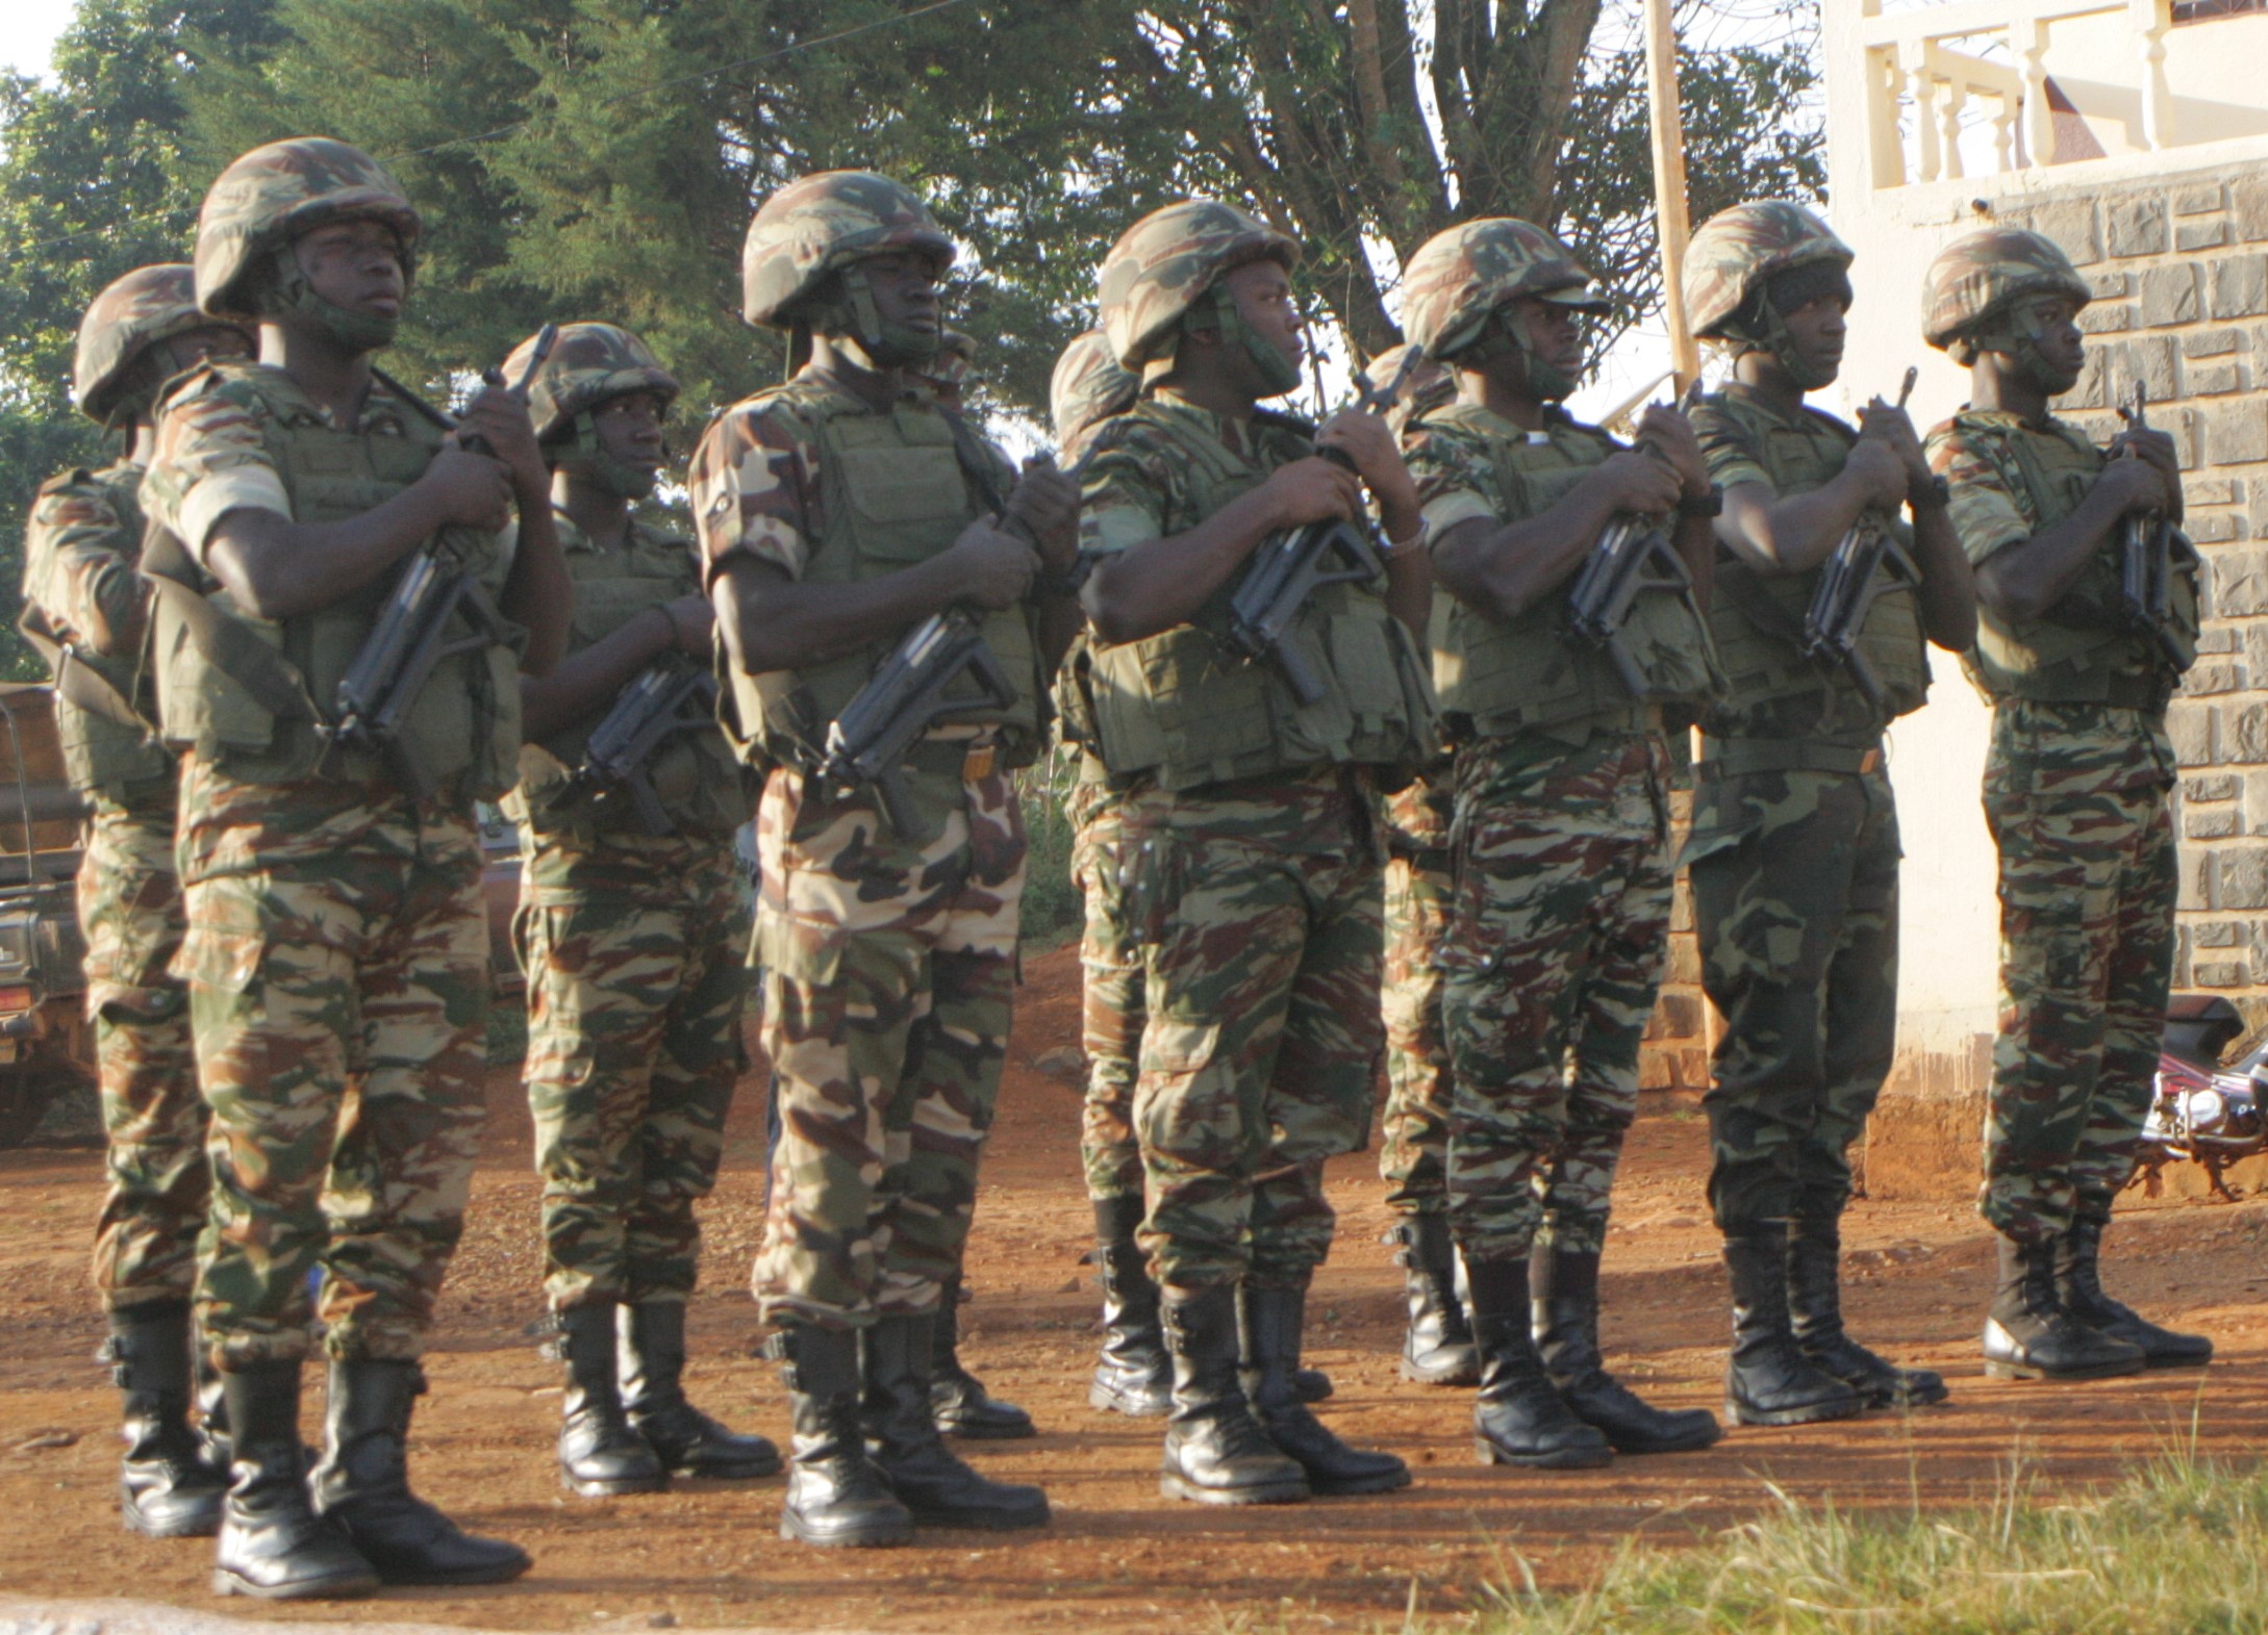
{"label": "second front-row soldier from left, with brown-toned camouflage sleeve", "polygon": [[[1077,547],[1070,483],[1027,467],[996,515],[991,456],[916,386],[950,263],[887,177],[830,170],[764,200],[744,313],[810,361],[723,410],[692,467],[742,751],[769,769],[755,946],[782,1118],[755,1293],[794,1399],[780,1533],[810,1544],[1048,1519],[1039,1488],[948,1451],[930,1408],[1009,1027],[1025,853],[1009,769],[1041,748]],[[946,608],[978,610],[1014,696],[912,748],[900,835],[873,789],[812,773],[873,667]],[[973,694],[964,676],[948,696]]]}

